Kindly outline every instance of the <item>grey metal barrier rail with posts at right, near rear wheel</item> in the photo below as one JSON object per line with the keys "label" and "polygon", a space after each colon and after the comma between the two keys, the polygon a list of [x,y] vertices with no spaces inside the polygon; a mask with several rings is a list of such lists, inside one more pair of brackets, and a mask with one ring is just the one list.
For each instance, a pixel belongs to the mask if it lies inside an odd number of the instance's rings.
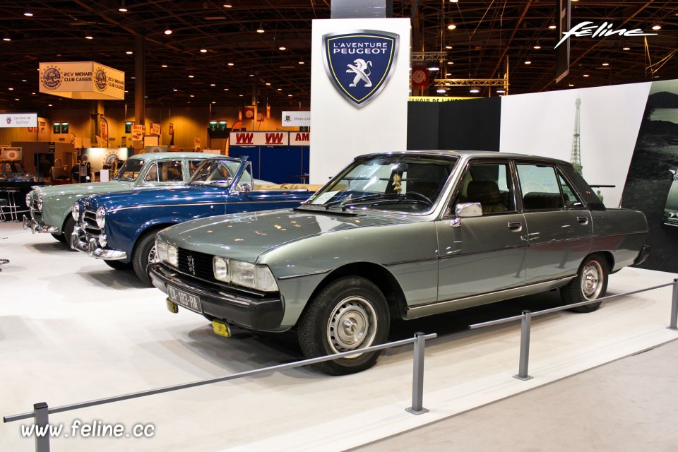
{"label": "grey metal barrier rail with posts at right, near rear wheel", "polygon": [[513,378],[518,380],[530,380],[531,377],[528,374],[528,362],[530,360],[530,328],[532,326],[532,318],[535,316],[542,316],[544,314],[551,314],[552,312],[564,311],[565,309],[572,309],[580,306],[585,306],[587,304],[605,302],[609,299],[627,297],[629,295],[634,295],[640,292],[648,292],[648,290],[660,289],[661,287],[673,286],[672,301],[671,301],[671,316],[669,321],[669,326],[667,329],[678,331],[678,279],[674,279],[673,283],[667,283],[662,285],[655,285],[653,287],[648,287],[647,289],[632,290],[631,292],[624,292],[617,295],[608,295],[607,297],[602,297],[598,299],[589,300],[586,302],[567,304],[566,306],[559,306],[551,309],[544,309],[542,311],[532,312],[532,311],[523,311],[523,314],[520,316],[506,317],[505,319],[492,320],[482,323],[474,323],[468,328],[475,330],[477,328],[484,328],[485,326],[499,325],[501,323],[509,323],[516,320],[521,320],[521,357],[520,363],[518,365],[518,374],[514,375]]}

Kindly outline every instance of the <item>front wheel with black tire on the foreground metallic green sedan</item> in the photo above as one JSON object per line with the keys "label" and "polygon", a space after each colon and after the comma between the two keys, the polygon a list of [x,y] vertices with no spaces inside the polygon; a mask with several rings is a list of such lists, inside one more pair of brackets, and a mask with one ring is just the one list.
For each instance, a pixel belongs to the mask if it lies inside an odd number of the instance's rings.
{"label": "front wheel with black tire on the foreground metallic green sedan", "polygon": [[[333,281],[309,301],[297,323],[297,338],[309,358],[357,350],[386,341],[389,319],[388,304],[379,287],[365,278],[347,276]],[[313,367],[329,375],[354,374],[374,366],[380,354],[358,353]]]}

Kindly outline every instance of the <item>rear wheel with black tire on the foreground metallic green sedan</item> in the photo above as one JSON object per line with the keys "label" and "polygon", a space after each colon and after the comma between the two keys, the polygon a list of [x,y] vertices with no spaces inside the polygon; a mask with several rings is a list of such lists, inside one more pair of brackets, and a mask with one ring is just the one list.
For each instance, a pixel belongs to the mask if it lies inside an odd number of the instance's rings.
{"label": "rear wheel with black tire on the foreground metallic green sedan", "polygon": [[[585,302],[605,297],[607,292],[607,261],[600,254],[591,254],[581,262],[577,276],[567,285],[561,287],[560,297],[565,304]],[[573,312],[593,312],[600,307],[600,302],[585,304],[570,309]]]}

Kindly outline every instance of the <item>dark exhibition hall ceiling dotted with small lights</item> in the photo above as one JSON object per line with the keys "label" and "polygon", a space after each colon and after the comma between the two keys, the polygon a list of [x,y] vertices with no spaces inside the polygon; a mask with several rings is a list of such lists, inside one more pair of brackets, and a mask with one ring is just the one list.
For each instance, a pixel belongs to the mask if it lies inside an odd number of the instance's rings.
{"label": "dark exhibition hall ceiling dotted with small lights", "polygon": [[[571,26],[590,20],[611,22],[615,30],[662,28],[647,44],[643,37],[571,37],[569,76],[555,83],[558,37],[549,25],[556,4],[393,0],[393,16],[412,19],[412,51],[427,58],[413,64],[438,66],[432,80],[501,78],[508,67],[509,93],[518,94],[678,78],[676,0],[579,0],[572,2]],[[121,5],[128,11],[119,11]],[[25,16],[28,11],[32,16]],[[246,105],[256,92],[259,102],[307,108],[311,20],[330,18],[330,11],[331,0],[6,1],[0,6],[0,109],[42,112],[48,104],[87,102],[39,92],[38,63],[52,61],[97,61],[124,71],[132,104],[142,40],[147,106]],[[456,29],[448,30],[451,23]],[[444,94],[468,91],[451,87]],[[481,88],[478,95],[495,93]],[[434,83],[425,94],[444,95]]]}

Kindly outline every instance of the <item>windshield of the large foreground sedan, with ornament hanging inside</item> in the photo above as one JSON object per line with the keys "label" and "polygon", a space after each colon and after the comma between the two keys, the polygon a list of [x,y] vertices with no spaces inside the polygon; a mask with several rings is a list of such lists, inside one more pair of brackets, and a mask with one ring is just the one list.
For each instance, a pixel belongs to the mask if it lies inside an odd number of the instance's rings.
{"label": "windshield of the large foreground sedan, with ornament hanging inside", "polygon": [[433,208],[456,162],[444,155],[371,155],[353,162],[307,204],[423,213]]}

